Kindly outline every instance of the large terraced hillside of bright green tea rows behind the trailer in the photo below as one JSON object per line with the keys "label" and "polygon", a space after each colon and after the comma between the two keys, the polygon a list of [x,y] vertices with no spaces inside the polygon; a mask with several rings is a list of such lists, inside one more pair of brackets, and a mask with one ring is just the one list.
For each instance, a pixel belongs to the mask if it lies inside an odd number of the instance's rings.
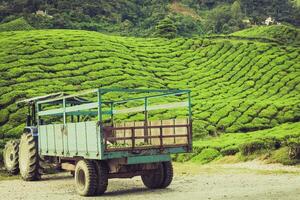
{"label": "large terraced hillside of bright green tea rows behind the trailer", "polygon": [[0,134],[20,134],[15,102],[95,87],[192,90],[195,134],[300,119],[300,49],[247,39],[144,39],[73,30],[0,33]]}

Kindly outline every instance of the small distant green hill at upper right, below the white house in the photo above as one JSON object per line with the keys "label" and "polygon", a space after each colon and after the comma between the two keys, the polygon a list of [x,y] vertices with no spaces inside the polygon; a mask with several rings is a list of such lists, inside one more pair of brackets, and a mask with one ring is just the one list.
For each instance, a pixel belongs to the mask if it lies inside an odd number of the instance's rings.
{"label": "small distant green hill at upper right, below the white house", "polygon": [[258,26],[231,35],[247,38],[266,38],[282,44],[300,45],[300,29],[286,25]]}

